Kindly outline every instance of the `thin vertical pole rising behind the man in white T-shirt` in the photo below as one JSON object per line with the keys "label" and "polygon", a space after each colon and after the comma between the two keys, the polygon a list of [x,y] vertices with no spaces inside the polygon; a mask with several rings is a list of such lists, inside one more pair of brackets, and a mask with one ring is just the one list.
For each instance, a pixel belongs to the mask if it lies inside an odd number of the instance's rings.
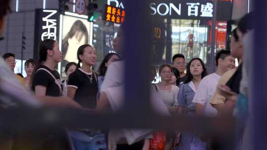
{"label": "thin vertical pole rising behind the man in white T-shirt", "polygon": [[215,32],[216,32],[216,21],[217,21],[217,0],[213,0],[213,18],[212,18],[212,45],[211,45],[211,55],[210,55],[210,71],[215,72],[215,61],[214,61],[214,55],[215,55]]}

